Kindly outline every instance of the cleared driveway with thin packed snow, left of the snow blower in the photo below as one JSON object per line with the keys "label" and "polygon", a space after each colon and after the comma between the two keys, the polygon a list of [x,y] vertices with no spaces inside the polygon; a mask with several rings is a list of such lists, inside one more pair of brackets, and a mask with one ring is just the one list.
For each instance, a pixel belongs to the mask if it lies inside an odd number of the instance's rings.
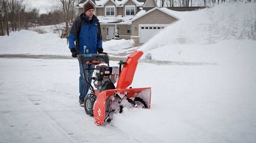
{"label": "cleared driveway with thin packed snow, left of the snow blower", "polygon": [[77,60],[0,59],[0,67],[0,142],[137,142],[97,127],[78,105]]}

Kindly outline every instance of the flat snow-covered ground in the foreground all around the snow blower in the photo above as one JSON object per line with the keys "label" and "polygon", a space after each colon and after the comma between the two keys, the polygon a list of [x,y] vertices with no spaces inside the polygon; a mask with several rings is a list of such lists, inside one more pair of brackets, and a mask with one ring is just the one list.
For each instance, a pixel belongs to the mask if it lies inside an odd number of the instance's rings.
{"label": "flat snow-covered ground in the foreground all around the snow blower", "polygon": [[76,59],[1,58],[0,142],[255,142],[250,51],[237,63],[139,63],[132,86],[152,87],[152,108],[101,127],[78,105]]}

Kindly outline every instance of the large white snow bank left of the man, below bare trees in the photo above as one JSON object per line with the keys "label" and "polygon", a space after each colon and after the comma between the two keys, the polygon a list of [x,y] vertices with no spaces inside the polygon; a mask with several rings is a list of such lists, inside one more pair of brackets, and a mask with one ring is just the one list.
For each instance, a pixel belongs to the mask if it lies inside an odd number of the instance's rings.
{"label": "large white snow bank left of the man, below bare trees", "polygon": [[54,33],[21,30],[2,36],[0,43],[1,54],[70,55],[67,39],[61,39]]}

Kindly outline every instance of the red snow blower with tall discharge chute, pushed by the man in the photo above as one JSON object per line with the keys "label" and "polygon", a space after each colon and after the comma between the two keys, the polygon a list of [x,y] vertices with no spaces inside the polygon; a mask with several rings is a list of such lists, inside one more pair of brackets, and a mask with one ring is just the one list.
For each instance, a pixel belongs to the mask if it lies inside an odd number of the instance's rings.
{"label": "red snow blower with tall discharge chute, pushed by the man", "polygon": [[[118,63],[119,67],[109,66],[107,53],[78,55],[80,63],[96,65],[94,69],[83,67],[84,79],[90,85],[91,90],[91,93],[84,98],[84,110],[86,114],[94,116],[96,125],[110,122],[113,113],[122,113],[123,107],[150,108],[151,88],[129,87],[132,84],[138,60],[142,55],[142,51],[134,51],[127,57],[126,62],[121,60]],[[94,90],[88,81],[86,70],[96,72],[96,77],[91,79],[97,89]]]}

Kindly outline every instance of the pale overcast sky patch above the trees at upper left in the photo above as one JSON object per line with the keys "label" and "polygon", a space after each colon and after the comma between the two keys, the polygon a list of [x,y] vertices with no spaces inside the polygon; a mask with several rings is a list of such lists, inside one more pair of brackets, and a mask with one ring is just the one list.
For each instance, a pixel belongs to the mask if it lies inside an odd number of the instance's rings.
{"label": "pale overcast sky patch above the trees at upper left", "polygon": [[24,4],[27,4],[28,8],[37,8],[40,9],[40,13],[45,13],[58,4],[58,0],[24,0]]}

